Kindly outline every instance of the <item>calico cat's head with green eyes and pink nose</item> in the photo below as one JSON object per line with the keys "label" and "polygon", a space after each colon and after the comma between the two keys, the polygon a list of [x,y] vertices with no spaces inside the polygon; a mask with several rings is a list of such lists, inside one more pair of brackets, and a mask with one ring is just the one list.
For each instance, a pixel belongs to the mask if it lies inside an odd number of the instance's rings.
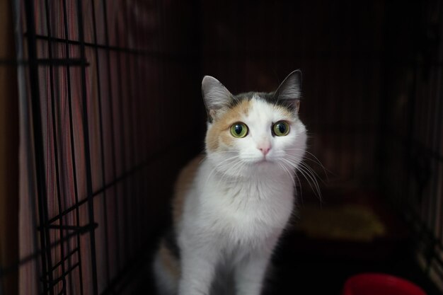
{"label": "calico cat's head with green eyes and pink nose", "polygon": [[212,76],[202,81],[208,115],[206,152],[224,175],[293,173],[304,156],[306,129],[299,120],[301,71],[271,93],[236,96]]}

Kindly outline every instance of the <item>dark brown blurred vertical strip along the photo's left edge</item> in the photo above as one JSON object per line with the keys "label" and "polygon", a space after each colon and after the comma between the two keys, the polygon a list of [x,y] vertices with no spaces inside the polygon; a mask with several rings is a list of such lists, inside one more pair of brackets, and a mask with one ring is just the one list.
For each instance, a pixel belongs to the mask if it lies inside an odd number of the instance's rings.
{"label": "dark brown blurred vertical strip along the photo's left edge", "polygon": [[[23,193],[19,188],[21,171],[19,158],[24,156],[19,147],[23,121],[19,118],[19,91],[21,83],[21,66],[17,62],[23,59],[21,52],[16,53],[13,46],[15,38],[22,37],[16,34],[18,22],[13,13],[13,1],[0,1],[0,294],[17,294],[19,289],[18,260],[20,258],[19,239],[21,238],[21,217],[18,210],[21,200],[18,195]],[[16,30],[16,32],[14,32]],[[21,31],[20,31],[21,32]],[[18,46],[17,46],[18,47]],[[8,63],[11,62],[11,66]],[[6,76],[7,75],[7,76]],[[25,122],[28,125],[28,122]],[[22,143],[23,144],[23,143]],[[23,150],[23,149],[22,149]],[[19,169],[20,168],[20,169]],[[7,170],[7,174],[5,173]],[[21,172],[21,173],[20,173]],[[28,180],[26,187],[30,183]],[[33,187],[35,188],[35,187]],[[33,195],[33,194],[31,194]],[[28,194],[25,195],[28,197]],[[24,196],[23,196],[24,197]],[[23,241],[21,241],[23,245]],[[30,240],[29,240],[30,242]],[[26,245],[28,246],[28,245]],[[6,273],[8,268],[17,267],[13,272]],[[6,272],[5,272],[6,270]]]}

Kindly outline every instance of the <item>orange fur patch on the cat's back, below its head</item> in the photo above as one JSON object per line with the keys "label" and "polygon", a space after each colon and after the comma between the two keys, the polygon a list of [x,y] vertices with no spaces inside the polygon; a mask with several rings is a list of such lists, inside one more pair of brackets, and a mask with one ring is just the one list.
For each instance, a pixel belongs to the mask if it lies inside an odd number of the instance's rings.
{"label": "orange fur patch on the cat's back, below its head", "polygon": [[197,169],[200,166],[200,162],[204,158],[203,155],[199,155],[190,161],[185,168],[180,171],[176,183],[176,191],[173,199],[173,221],[177,224],[183,214],[183,205],[185,204],[185,195],[188,192],[190,185],[193,183]]}

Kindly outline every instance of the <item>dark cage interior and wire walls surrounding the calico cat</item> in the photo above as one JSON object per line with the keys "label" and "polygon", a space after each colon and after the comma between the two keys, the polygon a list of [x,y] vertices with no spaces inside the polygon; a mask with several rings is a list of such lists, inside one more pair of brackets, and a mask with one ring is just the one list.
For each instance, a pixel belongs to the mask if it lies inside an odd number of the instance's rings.
{"label": "dark cage interior and wire walls surrounding the calico cat", "polygon": [[294,69],[321,196],[300,177],[265,293],[383,272],[442,294],[442,42],[438,0],[1,1],[0,294],[155,294],[202,76]]}

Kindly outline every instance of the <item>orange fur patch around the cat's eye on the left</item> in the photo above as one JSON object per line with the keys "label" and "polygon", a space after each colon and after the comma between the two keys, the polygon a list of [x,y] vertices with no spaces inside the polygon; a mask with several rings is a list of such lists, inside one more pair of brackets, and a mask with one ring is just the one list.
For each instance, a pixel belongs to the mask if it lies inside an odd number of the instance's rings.
{"label": "orange fur patch around the cat's eye on the left", "polygon": [[220,143],[231,146],[235,138],[229,133],[229,127],[235,122],[241,121],[241,117],[247,116],[250,108],[251,101],[242,100],[234,108],[227,110],[219,118],[216,118],[212,128],[207,133],[207,148],[210,151],[215,151],[219,149]]}

